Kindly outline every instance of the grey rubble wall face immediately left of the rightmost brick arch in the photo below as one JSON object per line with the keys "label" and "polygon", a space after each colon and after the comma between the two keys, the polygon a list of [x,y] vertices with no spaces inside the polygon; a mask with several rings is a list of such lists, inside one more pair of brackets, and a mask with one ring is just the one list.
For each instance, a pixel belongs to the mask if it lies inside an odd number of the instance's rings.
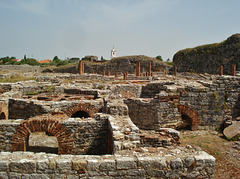
{"label": "grey rubble wall face immediately left of the rightmost brick arch", "polygon": [[176,127],[181,117],[172,101],[128,99],[124,102],[128,105],[129,117],[140,129]]}

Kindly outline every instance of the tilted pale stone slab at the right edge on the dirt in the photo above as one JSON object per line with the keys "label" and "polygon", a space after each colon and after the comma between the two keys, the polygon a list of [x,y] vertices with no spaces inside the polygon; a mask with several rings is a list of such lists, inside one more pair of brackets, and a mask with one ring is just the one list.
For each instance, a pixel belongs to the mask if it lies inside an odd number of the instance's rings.
{"label": "tilted pale stone slab at the right edge on the dirt", "polygon": [[232,125],[226,127],[223,130],[223,134],[229,140],[234,138],[234,137],[239,137],[240,138],[240,121],[233,121]]}

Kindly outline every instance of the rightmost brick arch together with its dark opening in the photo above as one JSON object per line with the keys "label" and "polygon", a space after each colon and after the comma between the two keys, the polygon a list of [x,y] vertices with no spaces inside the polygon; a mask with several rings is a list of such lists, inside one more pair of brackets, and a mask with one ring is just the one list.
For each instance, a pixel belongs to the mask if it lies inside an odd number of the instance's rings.
{"label": "rightmost brick arch together with its dark opening", "polygon": [[178,110],[182,115],[182,121],[177,129],[196,130],[197,126],[201,124],[201,119],[196,110],[191,109],[186,105],[179,105]]}

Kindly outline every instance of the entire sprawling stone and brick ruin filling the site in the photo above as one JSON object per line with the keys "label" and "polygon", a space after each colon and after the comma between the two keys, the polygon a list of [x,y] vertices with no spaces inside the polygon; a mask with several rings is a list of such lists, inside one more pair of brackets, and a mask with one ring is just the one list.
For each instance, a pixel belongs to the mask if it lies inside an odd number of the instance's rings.
{"label": "entire sprawling stone and brick ruin filling the site", "polygon": [[[0,178],[213,178],[181,129],[240,116],[238,76],[40,75],[0,83]],[[139,68],[139,65],[137,65]]]}

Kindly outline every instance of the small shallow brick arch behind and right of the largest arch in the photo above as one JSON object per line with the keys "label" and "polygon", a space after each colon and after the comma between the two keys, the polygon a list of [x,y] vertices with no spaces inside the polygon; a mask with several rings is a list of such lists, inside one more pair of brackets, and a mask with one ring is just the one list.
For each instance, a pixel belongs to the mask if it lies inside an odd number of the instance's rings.
{"label": "small shallow brick arch behind and right of the largest arch", "polygon": [[74,113],[78,112],[78,111],[84,111],[86,113],[89,114],[90,117],[94,117],[94,114],[97,113],[100,109],[96,109],[94,107],[92,107],[91,104],[89,103],[85,103],[85,104],[77,104],[74,106],[69,107],[66,110],[66,114],[71,117]]}

